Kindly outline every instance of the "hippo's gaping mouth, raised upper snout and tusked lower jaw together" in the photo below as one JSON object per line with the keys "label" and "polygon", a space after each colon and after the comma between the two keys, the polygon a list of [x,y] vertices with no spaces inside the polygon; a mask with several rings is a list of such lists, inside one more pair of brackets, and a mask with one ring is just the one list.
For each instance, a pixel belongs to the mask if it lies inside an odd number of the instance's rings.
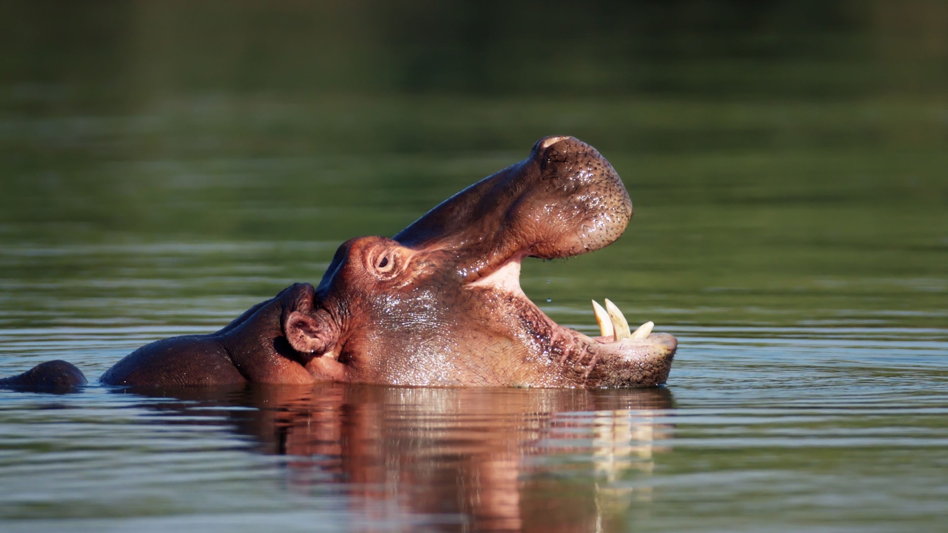
{"label": "hippo's gaping mouth, raised upper snout and tusked lower jaw together", "polygon": [[[632,330],[613,303],[593,304],[600,335],[560,326],[520,288],[524,257],[565,258],[609,246],[629,224],[632,204],[622,179],[592,146],[571,137],[542,138],[530,156],[448,198],[393,239],[415,250],[438,250],[455,262],[471,288],[513,296],[504,315],[531,344],[584,386],[665,382],[677,341]],[[564,382],[565,383],[565,382]],[[557,384],[558,386],[558,384]]]}

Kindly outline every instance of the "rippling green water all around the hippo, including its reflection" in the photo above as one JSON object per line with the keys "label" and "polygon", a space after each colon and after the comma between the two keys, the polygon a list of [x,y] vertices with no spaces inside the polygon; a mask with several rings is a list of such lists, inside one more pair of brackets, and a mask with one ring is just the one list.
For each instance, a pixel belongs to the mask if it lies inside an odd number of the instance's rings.
{"label": "rippling green water all around the hippo, including its reflection", "polygon": [[0,528],[937,531],[940,2],[0,7],[0,375],[207,332],[552,134],[635,205],[527,262],[666,389],[0,392]]}

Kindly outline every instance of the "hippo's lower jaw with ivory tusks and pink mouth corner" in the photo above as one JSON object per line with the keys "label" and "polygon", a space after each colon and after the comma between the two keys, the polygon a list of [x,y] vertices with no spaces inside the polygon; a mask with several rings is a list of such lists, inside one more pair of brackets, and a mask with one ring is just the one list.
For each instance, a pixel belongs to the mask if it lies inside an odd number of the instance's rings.
{"label": "hippo's lower jaw with ivory tusks and pink mouth corner", "polygon": [[[622,312],[609,300],[609,311],[593,301],[593,314],[599,323],[600,336],[589,337],[559,325],[533,303],[520,286],[520,265],[526,252],[511,257],[497,270],[480,280],[467,284],[471,290],[505,293],[516,299],[513,312],[533,335],[543,332],[548,342],[539,340],[541,358],[560,366],[551,373],[554,379],[541,386],[641,387],[665,384],[678,340],[667,333],[652,333],[653,322],[646,322],[632,332]],[[491,299],[498,301],[502,299]],[[541,334],[541,335],[542,335]],[[511,385],[527,385],[511,383]]]}

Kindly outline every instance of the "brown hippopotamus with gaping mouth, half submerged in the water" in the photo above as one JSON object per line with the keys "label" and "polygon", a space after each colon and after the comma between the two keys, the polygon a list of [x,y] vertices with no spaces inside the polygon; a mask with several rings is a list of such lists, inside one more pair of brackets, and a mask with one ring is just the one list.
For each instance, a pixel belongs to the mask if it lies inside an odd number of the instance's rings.
{"label": "brown hippopotamus with gaping mouth, half submerged in the water", "polygon": [[[392,238],[346,241],[319,285],[296,284],[207,335],[156,340],[105,372],[109,385],[340,381],[410,386],[664,384],[677,340],[635,331],[593,302],[600,336],[547,317],[520,288],[526,257],[606,247],[629,224],[619,175],[592,146],[541,138],[530,155],[456,193]],[[55,364],[53,364],[55,363]],[[64,361],[0,386],[82,384]]]}

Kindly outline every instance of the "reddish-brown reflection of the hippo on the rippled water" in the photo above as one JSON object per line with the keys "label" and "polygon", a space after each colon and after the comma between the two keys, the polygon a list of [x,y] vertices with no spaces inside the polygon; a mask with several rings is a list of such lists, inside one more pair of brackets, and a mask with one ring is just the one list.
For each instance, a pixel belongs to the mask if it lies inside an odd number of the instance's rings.
{"label": "reddish-brown reflection of the hippo on the rippled water", "polygon": [[[223,430],[214,435],[236,435],[225,437],[235,446],[285,456],[266,464],[286,491],[329,498],[334,512],[352,516],[353,531],[625,531],[655,512],[651,472],[675,432],[665,387],[318,383],[115,392],[139,394],[138,409],[160,414],[139,422],[157,431],[211,426]],[[143,426],[139,436],[150,432]]]}

